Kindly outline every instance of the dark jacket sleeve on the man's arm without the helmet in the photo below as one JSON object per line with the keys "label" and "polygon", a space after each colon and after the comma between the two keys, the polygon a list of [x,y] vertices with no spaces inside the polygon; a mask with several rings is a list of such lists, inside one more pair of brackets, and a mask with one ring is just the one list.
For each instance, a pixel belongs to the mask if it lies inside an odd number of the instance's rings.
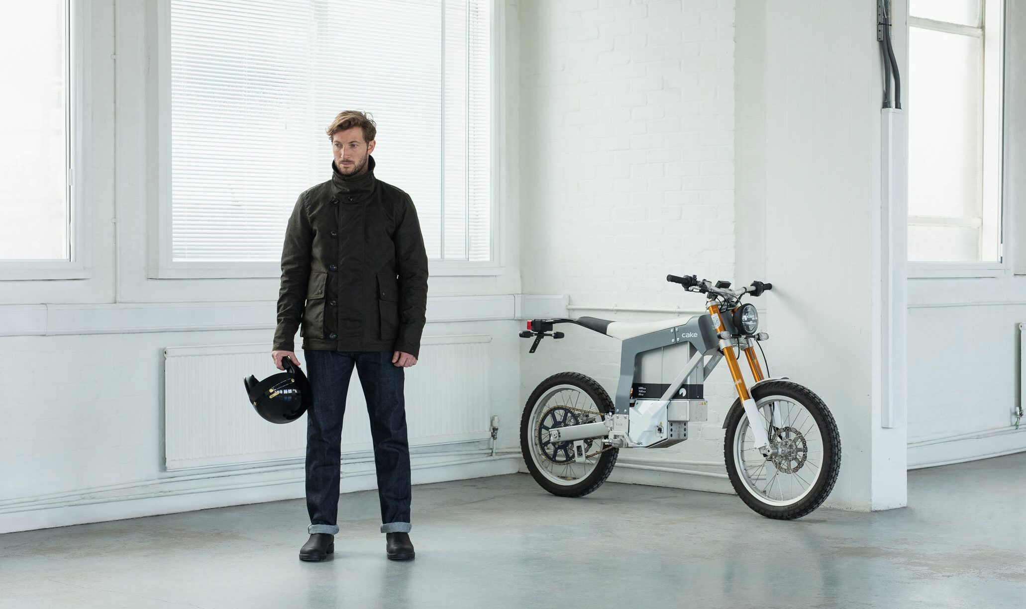
{"label": "dark jacket sleeve on the man's arm without the helmet", "polygon": [[417,208],[408,195],[396,230],[395,259],[399,274],[399,334],[395,351],[419,358],[421,334],[427,321],[428,254]]}

